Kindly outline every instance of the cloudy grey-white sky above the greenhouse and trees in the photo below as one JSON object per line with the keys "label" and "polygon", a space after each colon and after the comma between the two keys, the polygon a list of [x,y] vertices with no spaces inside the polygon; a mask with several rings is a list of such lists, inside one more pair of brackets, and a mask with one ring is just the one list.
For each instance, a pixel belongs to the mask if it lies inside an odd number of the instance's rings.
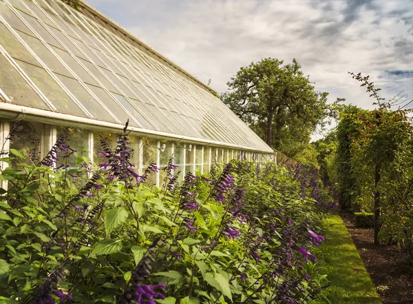
{"label": "cloudy grey-white sky above the greenhouse and trees", "polygon": [[372,107],[350,72],[382,97],[413,97],[411,0],[87,0],[219,93],[241,66],[296,58],[330,101]]}

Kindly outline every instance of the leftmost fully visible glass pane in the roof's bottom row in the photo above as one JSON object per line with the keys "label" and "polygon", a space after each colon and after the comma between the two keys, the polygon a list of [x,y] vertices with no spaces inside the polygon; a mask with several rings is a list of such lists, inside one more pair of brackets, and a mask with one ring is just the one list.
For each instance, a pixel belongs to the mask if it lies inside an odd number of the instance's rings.
{"label": "leftmost fully visible glass pane in the roof's bottom row", "polygon": [[28,77],[32,79],[34,84],[37,85],[59,112],[85,116],[81,108],[70,99],[69,95],[47,74],[45,69],[25,63],[24,61],[17,60],[17,63],[19,63],[20,67],[28,74]]}

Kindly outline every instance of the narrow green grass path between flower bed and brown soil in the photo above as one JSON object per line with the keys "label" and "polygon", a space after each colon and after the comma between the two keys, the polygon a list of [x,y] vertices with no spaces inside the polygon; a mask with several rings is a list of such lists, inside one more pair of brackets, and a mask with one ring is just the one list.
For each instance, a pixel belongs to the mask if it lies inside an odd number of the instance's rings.
{"label": "narrow green grass path between flower bed and brown soil", "polygon": [[[338,215],[324,220],[326,241],[319,246],[321,268],[330,287],[323,294],[331,304],[382,304],[346,226]],[[314,304],[323,302],[313,302]]]}

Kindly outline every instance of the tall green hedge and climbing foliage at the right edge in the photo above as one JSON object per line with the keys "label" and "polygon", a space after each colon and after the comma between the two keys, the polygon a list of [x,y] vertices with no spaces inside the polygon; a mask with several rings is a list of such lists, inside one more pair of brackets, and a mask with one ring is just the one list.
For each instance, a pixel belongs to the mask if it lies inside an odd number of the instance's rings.
{"label": "tall green hedge and climbing foliage at the right edge", "polygon": [[[374,212],[374,243],[396,241],[413,261],[413,128],[399,101],[383,102],[369,77],[361,81],[376,110],[341,108],[336,166],[342,207]],[[396,103],[401,104],[393,110]]]}

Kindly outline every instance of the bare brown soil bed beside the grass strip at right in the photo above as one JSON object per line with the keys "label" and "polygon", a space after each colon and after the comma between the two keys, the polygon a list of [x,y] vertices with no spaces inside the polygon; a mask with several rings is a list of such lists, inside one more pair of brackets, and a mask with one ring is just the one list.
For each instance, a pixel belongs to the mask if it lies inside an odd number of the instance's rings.
{"label": "bare brown soil bed beside the grass strip at right", "polygon": [[383,304],[413,304],[413,264],[397,245],[374,245],[373,228],[356,227],[351,213],[340,215]]}

